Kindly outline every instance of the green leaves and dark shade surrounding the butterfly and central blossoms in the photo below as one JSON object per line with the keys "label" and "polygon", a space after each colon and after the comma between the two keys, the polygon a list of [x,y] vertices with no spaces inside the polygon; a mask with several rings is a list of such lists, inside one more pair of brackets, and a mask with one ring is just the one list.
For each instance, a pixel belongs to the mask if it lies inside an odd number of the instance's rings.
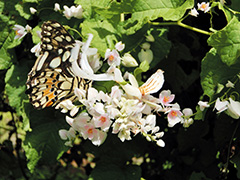
{"label": "green leaves and dark shade surrounding the butterfly and central blossoms", "polygon": [[[67,20],[53,11],[56,2],[61,8],[82,5],[84,18]],[[183,20],[197,3],[200,1],[0,0],[0,179],[240,178],[239,119],[216,114],[213,108],[201,112],[196,107],[199,100],[214,102],[230,93],[219,90],[228,80],[237,82],[233,91],[240,100],[240,2],[227,0],[223,7],[211,1],[211,13],[200,12],[199,17]],[[30,7],[37,14],[32,15]],[[138,60],[141,44],[151,33],[155,41],[151,42],[154,59],[149,70],[145,72],[145,66],[122,70],[145,80],[156,69],[163,69],[163,89],[176,94],[182,108],[196,109],[194,124],[187,129],[181,125],[168,128],[166,118],[159,116],[158,125],[165,131],[164,148],[141,136],[122,143],[114,135],[100,147],[83,140],[71,149],[64,146],[58,135],[59,129],[68,128],[64,115],[53,108],[35,110],[25,95],[27,73],[36,59],[30,49],[40,40],[34,33],[16,40],[12,30],[15,24],[29,24],[36,32],[47,20],[76,28],[84,38],[92,33],[91,45],[103,57],[107,48],[122,41],[124,52]],[[143,162],[137,164],[133,157]]]}

